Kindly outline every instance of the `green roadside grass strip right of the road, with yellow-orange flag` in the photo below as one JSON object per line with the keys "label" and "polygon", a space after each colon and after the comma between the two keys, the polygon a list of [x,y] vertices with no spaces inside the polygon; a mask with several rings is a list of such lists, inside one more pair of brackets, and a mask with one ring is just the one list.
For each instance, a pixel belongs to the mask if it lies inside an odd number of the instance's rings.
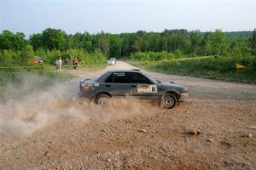
{"label": "green roadside grass strip right of the road, with yellow-orange flag", "polygon": [[[128,60],[128,62],[150,71],[230,82],[256,83],[256,57],[253,56],[181,59],[166,62]],[[239,69],[237,74],[236,64],[245,65],[246,68]]]}

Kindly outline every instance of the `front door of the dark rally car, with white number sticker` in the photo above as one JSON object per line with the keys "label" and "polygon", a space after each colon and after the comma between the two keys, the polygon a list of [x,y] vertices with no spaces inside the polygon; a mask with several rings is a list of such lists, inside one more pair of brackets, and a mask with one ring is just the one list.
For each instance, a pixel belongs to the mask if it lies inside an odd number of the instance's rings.
{"label": "front door of the dark rally car, with white number sticker", "polygon": [[129,72],[128,74],[131,95],[139,99],[157,99],[158,98],[158,86],[154,82],[150,81],[148,77],[145,77],[139,72]]}

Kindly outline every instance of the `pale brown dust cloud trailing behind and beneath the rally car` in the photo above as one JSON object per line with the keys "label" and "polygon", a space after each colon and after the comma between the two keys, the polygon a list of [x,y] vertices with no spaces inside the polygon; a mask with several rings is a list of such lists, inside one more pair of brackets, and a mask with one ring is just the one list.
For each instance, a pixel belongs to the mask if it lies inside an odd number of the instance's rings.
{"label": "pale brown dust cloud trailing behind and beneath the rally car", "polygon": [[82,123],[96,119],[107,122],[156,107],[126,99],[111,100],[107,106],[80,98],[79,81],[61,81],[38,74],[20,75],[19,82],[6,82],[0,94],[0,135],[22,137],[56,122]]}

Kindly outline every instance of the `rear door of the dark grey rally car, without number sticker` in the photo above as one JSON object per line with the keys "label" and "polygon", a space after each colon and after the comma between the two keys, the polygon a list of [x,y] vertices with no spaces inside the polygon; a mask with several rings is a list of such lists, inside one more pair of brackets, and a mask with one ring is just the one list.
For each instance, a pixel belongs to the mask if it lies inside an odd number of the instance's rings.
{"label": "rear door of the dark grey rally car, without number sticker", "polygon": [[131,86],[128,78],[125,72],[113,72],[102,85],[113,96],[129,95]]}

